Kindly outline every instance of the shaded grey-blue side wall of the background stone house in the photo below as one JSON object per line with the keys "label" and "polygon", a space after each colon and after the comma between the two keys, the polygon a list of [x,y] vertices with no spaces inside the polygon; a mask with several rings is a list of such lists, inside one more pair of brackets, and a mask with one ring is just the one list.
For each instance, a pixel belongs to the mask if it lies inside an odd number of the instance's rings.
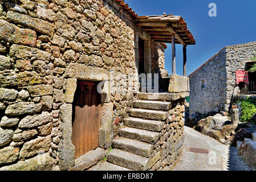
{"label": "shaded grey-blue side wall of the background stone house", "polygon": [[[226,50],[213,56],[189,76],[189,115],[222,109],[226,90]],[[205,81],[206,86],[202,84]]]}

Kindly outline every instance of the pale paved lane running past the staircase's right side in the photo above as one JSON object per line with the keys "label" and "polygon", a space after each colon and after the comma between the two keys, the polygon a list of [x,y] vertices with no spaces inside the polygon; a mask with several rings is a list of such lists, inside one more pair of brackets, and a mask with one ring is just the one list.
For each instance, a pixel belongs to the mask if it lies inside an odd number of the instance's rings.
{"label": "pale paved lane running past the staircase's right side", "polygon": [[[184,151],[172,171],[247,171],[251,170],[238,156],[235,147],[227,147],[217,140],[185,127]],[[190,152],[190,148],[208,150],[208,154]]]}

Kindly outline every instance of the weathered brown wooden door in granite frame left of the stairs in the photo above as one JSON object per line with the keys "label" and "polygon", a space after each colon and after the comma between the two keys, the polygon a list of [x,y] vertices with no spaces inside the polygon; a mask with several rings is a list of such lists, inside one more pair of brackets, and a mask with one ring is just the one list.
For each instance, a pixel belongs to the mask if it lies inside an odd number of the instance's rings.
{"label": "weathered brown wooden door in granite frame left of the stairs", "polygon": [[78,81],[73,102],[72,143],[75,158],[99,147],[100,94],[92,81]]}

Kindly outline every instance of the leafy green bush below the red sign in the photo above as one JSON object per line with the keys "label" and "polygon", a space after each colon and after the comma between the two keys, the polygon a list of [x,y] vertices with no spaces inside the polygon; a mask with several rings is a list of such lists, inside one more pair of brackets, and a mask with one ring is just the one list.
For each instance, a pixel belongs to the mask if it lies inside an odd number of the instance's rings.
{"label": "leafy green bush below the red sign", "polygon": [[250,118],[256,113],[256,100],[239,100],[241,102],[241,117],[240,121],[248,122]]}

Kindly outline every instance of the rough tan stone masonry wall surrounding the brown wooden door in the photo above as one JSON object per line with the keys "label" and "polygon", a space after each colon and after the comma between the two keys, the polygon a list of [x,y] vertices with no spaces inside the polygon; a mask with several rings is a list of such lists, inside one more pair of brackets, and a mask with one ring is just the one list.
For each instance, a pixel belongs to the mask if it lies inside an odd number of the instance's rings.
{"label": "rough tan stone masonry wall surrounding the brown wooden door", "polygon": [[[0,1],[0,170],[73,167],[76,81],[109,81],[112,71],[123,76],[115,81],[118,93],[108,92],[107,82],[104,84],[101,150],[97,150],[101,157],[90,165],[103,159],[118,135],[114,119],[122,122],[127,117],[132,100],[136,100],[133,92],[139,90],[139,37],[151,53],[145,60],[148,69],[166,76],[164,44],[150,40],[116,1]],[[132,76],[128,79],[132,93],[122,92],[125,88],[120,84],[128,75]],[[172,108],[183,108],[182,103],[177,105]],[[178,118],[177,128],[173,126],[178,138],[184,111],[176,109],[170,112],[173,119]]]}

